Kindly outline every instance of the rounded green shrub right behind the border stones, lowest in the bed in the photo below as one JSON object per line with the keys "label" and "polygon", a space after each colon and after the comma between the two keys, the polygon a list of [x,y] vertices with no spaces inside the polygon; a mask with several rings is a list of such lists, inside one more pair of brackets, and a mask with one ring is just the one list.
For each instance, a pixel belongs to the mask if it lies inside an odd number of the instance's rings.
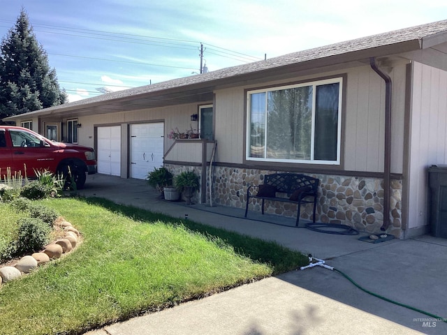
{"label": "rounded green shrub right behind the border stones, lowest in the bed", "polygon": [[33,253],[40,250],[50,240],[51,228],[39,218],[21,218],[15,253]]}

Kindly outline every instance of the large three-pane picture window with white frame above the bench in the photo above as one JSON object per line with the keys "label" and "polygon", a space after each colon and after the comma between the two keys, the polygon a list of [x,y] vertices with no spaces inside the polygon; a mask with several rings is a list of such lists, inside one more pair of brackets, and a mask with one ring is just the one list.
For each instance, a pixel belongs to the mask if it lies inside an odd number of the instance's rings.
{"label": "large three-pane picture window with white frame above the bench", "polygon": [[342,78],[249,91],[247,159],[339,164]]}

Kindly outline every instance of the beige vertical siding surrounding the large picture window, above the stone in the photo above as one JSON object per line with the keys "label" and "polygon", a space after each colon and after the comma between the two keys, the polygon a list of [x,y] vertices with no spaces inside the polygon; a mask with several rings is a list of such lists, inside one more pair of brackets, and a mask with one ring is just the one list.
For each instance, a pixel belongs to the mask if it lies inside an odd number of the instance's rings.
{"label": "beige vertical siding surrounding the large picture window, above the stone", "polygon": [[[393,147],[391,151],[391,171],[396,174],[402,174],[404,153],[406,63],[406,61],[399,61],[390,68],[390,75],[396,83],[393,89]],[[385,84],[369,66],[350,68],[346,72],[332,71],[313,76],[265,82],[263,87],[344,74],[346,74],[347,83],[346,105],[342,118],[343,170],[383,172]],[[253,88],[255,87],[251,85],[216,91],[215,133],[219,143],[218,161],[221,163],[242,164],[244,162],[247,113],[244,103],[245,91]]]}

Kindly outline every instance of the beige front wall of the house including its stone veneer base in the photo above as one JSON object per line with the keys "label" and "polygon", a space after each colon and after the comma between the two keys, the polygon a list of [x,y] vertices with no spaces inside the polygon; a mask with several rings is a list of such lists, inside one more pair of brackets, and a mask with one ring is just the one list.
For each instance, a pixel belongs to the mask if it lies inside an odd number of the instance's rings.
{"label": "beige front wall of the house including its stone veneer base", "polygon": [[[407,61],[389,62],[383,66],[393,80],[393,134],[392,134],[392,172],[402,174],[404,156],[404,101]],[[305,171],[321,180],[318,193],[317,220],[325,223],[344,223],[362,231],[379,232],[383,224],[383,179],[371,177],[371,174],[383,172],[384,156],[384,114],[385,84],[369,66],[340,68],[325,73],[306,76],[293,76],[214,91],[214,138],[217,141],[215,180],[213,202],[233,207],[244,207],[248,184],[262,181],[262,176],[276,172],[275,168],[258,168],[261,162],[245,163],[246,103],[247,90],[269,87],[306,80],[342,76],[344,77],[344,108],[342,110],[342,165],[322,166],[318,173]],[[164,122],[164,148],[167,166],[174,172],[185,166],[198,168],[201,155],[195,148],[198,143],[184,142],[173,146],[174,140],[168,138],[171,129],[186,131],[190,125],[198,128],[195,121],[190,121],[191,114],[197,114],[199,103],[173,105],[132,112],[114,112],[79,117],[82,124],[79,129],[80,144],[94,147],[95,127],[121,125],[126,130],[129,124]],[[122,131],[122,133],[123,133]],[[128,137],[128,135],[123,134]],[[194,144],[194,145],[193,145]],[[123,145],[122,177],[129,176],[129,162]],[[177,162],[177,164],[175,164]],[[309,165],[287,163],[281,170],[293,170],[296,166],[306,170]],[[242,167],[242,168],[240,168]],[[344,172],[337,174],[339,172]],[[327,173],[324,171],[327,170]],[[350,174],[355,172],[354,174]],[[201,172],[200,172],[201,173]],[[392,198],[390,200],[390,220],[392,225],[388,232],[400,237],[402,230],[402,180],[392,181]],[[208,188],[206,188],[208,190]],[[207,191],[206,191],[207,192]],[[198,197],[202,199],[201,194]],[[256,200],[250,209],[257,210]],[[309,218],[309,210],[302,211],[302,218]],[[271,203],[266,207],[267,213],[286,216],[296,215],[296,207],[287,203]]]}

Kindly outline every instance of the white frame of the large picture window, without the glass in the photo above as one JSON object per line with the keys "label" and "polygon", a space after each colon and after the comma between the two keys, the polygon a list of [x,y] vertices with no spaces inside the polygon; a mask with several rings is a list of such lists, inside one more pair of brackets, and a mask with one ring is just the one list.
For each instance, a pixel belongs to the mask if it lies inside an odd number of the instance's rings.
{"label": "white frame of the large picture window, without the glass", "polygon": [[[315,144],[315,110],[316,110],[316,87],[325,85],[325,84],[339,84],[339,97],[338,97],[338,114],[337,114],[337,159],[335,161],[323,161],[323,160],[316,160],[314,159],[314,144]],[[279,163],[279,164],[304,164],[304,165],[320,165],[321,167],[324,166],[332,166],[332,168],[342,168],[342,149],[344,147],[342,142],[342,121],[344,119],[344,98],[346,97],[345,94],[345,87],[346,84],[346,75],[336,75],[333,77],[325,77],[321,79],[314,79],[314,80],[306,80],[301,82],[294,82],[291,84],[279,84],[274,85],[270,87],[263,87],[258,89],[247,89],[245,91],[245,98],[246,98],[246,128],[245,128],[245,161],[247,163]],[[252,94],[258,94],[258,93],[265,93],[265,125],[267,126],[268,122],[268,93],[271,91],[281,91],[284,89],[295,89],[298,87],[308,87],[312,86],[312,159],[305,160],[305,159],[281,159],[281,158],[266,158],[264,151],[264,157],[250,157],[250,131],[251,131],[251,95]],[[268,130],[265,133],[265,139],[264,139],[264,146],[265,150],[267,149],[267,142],[268,142]]]}

